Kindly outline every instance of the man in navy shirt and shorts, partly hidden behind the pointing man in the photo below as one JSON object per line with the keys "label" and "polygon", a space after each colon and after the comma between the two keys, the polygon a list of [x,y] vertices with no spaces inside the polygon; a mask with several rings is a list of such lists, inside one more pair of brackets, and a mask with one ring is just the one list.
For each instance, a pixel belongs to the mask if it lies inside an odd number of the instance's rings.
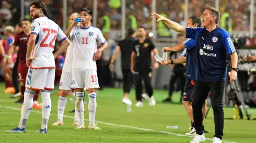
{"label": "man in navy shirt and shorts, partly hidden behind the pointing man", "polygon": [[[190,17],[187,22],[187,27],[201,27],[201,19],[200,17]],[[167,60],[165,63],[162,62],[163,65],[167,64],[180,64],[180,63],[187,63],[186,64],[186,73],[187,73],[187,80],[185,82],[184,87],[184,94],[183,94],[183,105],[185,107],[185,110],[187,111],[189,118],[191,120],[191,128],[190,133],[186,133],[188,136],[194,136],[196,134],[195,128],[194,128],[194,119],[193,119],[193,113],[192,113],[192,99],[193,99],[193,90],[194,90],[194,83],[195,83],[195,76],[196,76],[196,42],[195,40],[188,38],[186,41],[184,41],[182,44],[176,45],[174,47],[164,47],[162,51],[180,51],[183,49],[180,58],[179,59],[173,59],[173,60]],[[187,57],[187,58],[186,58]],[[207,99],[207,97],[206,97]],[[203,105],[203,117],[205,117],[207,111],[207,104],[206,100]],[[206,131],[204,131],[206,132]]]}

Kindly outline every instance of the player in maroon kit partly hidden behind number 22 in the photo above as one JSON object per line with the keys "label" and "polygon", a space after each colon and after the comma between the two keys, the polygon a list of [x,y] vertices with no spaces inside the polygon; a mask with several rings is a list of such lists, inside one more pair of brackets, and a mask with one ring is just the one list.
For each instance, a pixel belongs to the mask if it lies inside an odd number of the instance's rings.
{"label": "player in maroon kit partly hidden behind number 22", "polygon": [[[8,56],[8,63],[13,63],[13,59],[11,58],[15,51],[18,50],[19,53],[19,63],[18,63],[18,81],[20,83],[20,93],[21,93],[21,103],[24,101],[24,93],[25,93],[25,82],[26,76],[28,73],[28,67],[26,65],[26,53],[27,53],[27,46],[29,40],[29,33],[31,27],[31,20],[25,18],[22,20],[22,28],[23,31],[18,33],[15,36],[14,44],[9,49],[9,56]],[[18,46],[18,49],[17,49]],[[33,97],[33,106],[32,108],[42,109],[42,107],[37,102],[39,96],[39,90]],[[22,106],[21,106],[22,107]]]}

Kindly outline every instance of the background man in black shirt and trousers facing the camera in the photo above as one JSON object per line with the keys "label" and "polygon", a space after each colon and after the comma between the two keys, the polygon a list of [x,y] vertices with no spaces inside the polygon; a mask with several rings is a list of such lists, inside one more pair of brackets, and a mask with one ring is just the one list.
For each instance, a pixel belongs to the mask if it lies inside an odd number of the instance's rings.
{"label": "background man in black shirt and trousers facing the camera", "polygon": [[[135,74],[135,93],[137,99],[135,106],[143,107],[142,77],[149,96],[149,106],[155,106],[156,101],[153,96],[153,88],[150,80],[150,77],[152,77],[151,52],[158,55],[158,50],[154,43],[149,38],[146,38],[146,31],[143,27],[138,28],[137,35],[138,40],[135,41],[131,55],[131,71]],[[154,69],[158,69],[158,67],[159,64],[155,62]]]}

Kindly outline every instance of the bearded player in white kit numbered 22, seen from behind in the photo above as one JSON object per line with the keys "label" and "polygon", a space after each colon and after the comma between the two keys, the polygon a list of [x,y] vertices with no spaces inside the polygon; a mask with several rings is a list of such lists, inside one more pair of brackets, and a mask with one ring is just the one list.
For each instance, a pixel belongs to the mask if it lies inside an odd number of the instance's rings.
{"label": "bearded player in white kit numbered 22, seen from behind", "polygon": [[[70,44],[59,25],[48,19],[47,8],[41,1],[34,1],[30,5],[30,16],[33,19],[28,40],[26,64],[29,67],[24,103],[21,109],[19,126],[6,131],[9,133],[25,133],[25,126],[32,110],[33,96],[36,90],[42,95],[42,125],[37,133],[48,133],[47,124],[51,112],[50,90],[54,89],[55,62]],[[55,40],[61,43],[60,48],[53,54]]]}

